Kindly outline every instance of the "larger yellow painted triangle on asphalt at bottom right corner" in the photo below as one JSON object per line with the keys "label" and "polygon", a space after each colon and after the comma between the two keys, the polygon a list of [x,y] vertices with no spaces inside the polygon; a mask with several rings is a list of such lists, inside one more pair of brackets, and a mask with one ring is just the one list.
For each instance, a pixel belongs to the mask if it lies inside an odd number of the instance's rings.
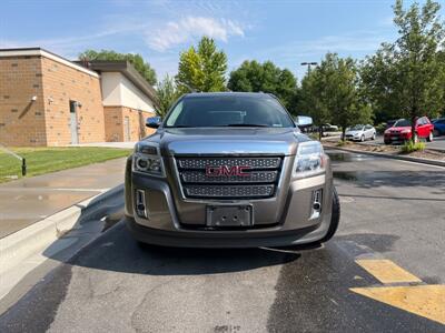
{"label": "larger yellow painted triangle on asphalt at bottom right corner", "polygon": [[350,291],[445,324],[445,285],[353,287]]}

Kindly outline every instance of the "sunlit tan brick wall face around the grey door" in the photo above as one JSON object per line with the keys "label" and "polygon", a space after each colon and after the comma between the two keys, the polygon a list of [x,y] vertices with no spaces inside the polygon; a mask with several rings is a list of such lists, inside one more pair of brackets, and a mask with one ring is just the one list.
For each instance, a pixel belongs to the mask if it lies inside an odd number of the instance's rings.
{"label": "sunlit tan brick wall face around the grey door", "polygon": [[99,78],[42,58],[48,145],[71,143],[70,101],[77,108],[79,143],[105,141],[105,119]]}

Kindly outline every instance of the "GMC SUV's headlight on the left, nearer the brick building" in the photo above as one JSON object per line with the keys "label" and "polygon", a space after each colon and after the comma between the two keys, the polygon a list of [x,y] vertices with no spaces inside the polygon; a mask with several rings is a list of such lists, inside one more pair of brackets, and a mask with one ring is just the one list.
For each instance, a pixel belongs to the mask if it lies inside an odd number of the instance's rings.
{"label": "GMC SUV's headlight on the left, nearer the brick building", "polygon": [[132,170],[155,176],[165,176],[159,145],[142,142],[136,144],[132,157]]}

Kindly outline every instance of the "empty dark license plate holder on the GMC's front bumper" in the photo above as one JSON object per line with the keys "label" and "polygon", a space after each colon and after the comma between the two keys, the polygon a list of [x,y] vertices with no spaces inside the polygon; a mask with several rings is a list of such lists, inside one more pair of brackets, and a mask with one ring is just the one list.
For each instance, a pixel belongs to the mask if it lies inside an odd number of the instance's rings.
{"label": "empty dark license plate holder on the GMC's front bumper", "polygon": [[250,226],[254,225],[251,205],[208,205],[207,226]]}

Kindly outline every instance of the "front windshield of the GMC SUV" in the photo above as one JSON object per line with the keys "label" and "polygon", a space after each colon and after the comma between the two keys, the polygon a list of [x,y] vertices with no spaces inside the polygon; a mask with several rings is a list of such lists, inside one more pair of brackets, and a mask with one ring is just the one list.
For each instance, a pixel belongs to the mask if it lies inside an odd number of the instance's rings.
{"label": "front windshield of the GMC SUV", "polygon": [[169,113],[167,128],[294,128],[287,111],[271,97],[208,95],[184,98]]}

